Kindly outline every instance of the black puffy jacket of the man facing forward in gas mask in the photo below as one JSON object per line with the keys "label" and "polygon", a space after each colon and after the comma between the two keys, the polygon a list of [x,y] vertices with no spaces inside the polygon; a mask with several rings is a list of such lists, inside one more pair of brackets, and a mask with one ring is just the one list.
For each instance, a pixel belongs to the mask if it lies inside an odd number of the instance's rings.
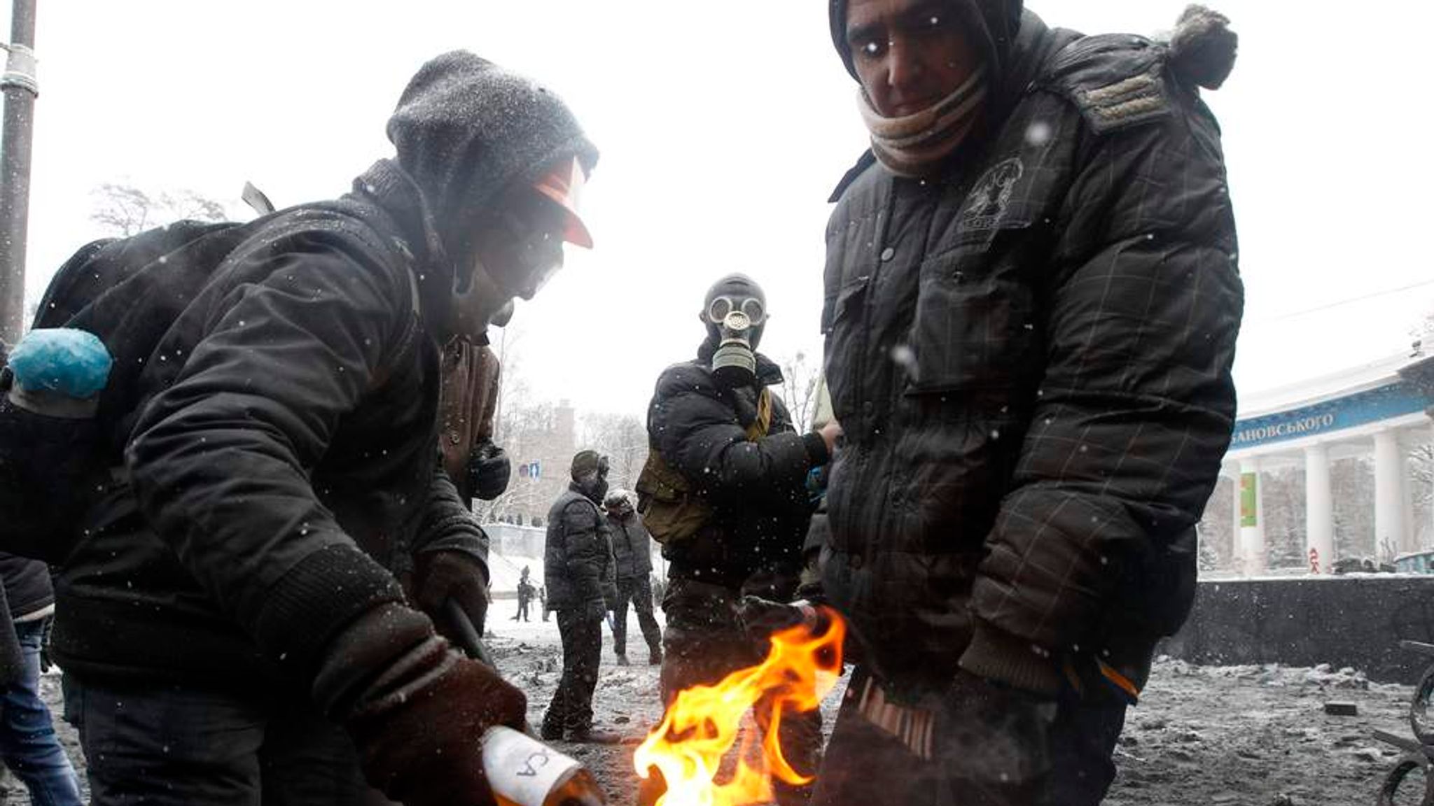
{"label": "black puffy jacket of the man facing forward in gas mask", "polygon": [[757,384],[733,390],[713,379],[710,361],[708,343],[697,360],[664,370],[647,413],[650,449],[713,508],[695,535],[663,546],[668,577],[740,588],[759,569],[796,575],[812,516],[806,475],[826,463],[826,445],[797,435],[774,393],[767,436],[749,440],[759,389],[782,383],[782,370],[759,353]]}

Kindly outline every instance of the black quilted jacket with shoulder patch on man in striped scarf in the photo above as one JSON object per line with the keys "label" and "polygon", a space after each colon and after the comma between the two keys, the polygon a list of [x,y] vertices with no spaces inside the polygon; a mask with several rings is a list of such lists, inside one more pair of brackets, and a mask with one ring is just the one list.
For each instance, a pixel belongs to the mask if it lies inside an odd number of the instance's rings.
{"label": "black quilted jacket with shoulder patch on man in striped scarf", "polygon": [[1008,113],[945,174],[868,155],[827,228],[823,581],[898,694],[958,663],[1051,691],[1068,653],[1143,684],[1235,414],[1235,221],[1197,92],[1160,44],[1030,13],[1007,65]]}

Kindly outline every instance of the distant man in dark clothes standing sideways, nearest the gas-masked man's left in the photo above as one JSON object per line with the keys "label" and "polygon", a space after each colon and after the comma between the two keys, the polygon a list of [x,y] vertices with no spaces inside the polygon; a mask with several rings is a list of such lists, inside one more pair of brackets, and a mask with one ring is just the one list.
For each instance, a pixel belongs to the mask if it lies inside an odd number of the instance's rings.
{"label": "distant man in dark clothes standing sideways, nearest the gas-masked man's left", "polygon": [[548,509],[543,577],[548,607],[558,611],[562,637],[562,680],[542,717],[548,740],[612,744],[619,737],[592,730],[592,691],[602,657],[602,618],[617,601],[612,539],[598,503],[608,492],[608,457],[579,450],[572,482]]}

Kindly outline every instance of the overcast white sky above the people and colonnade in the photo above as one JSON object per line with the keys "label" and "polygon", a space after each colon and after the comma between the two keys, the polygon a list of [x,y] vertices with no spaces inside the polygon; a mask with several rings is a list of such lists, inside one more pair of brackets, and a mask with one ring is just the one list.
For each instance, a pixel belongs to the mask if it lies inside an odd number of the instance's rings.
{"label": "overcast white sky above the people and colonnade", "polygon": [[[1407,349],[1434,311],[1434,4],[1210,4],[1240,33],[1235,73],[1206,98],[1242,241],[1242,393]],[[245,179],[281,207],[337,195],[391,153],[383,125],[409,76],[466,47],[556,89],[602,149],[585,198],[597,250],[569,254],[515,318],[536,396],[642,413],[657,373],[695,349],[701,293],[727,271],[767,288],[764,351],[820,350],[826,196],[865,146],[825,1],[39,6],[32,298],[100,234],[96,185],[192,188],[235,214]],[[1086,33],[1156,33],[1183,6],[1030,3]]]}

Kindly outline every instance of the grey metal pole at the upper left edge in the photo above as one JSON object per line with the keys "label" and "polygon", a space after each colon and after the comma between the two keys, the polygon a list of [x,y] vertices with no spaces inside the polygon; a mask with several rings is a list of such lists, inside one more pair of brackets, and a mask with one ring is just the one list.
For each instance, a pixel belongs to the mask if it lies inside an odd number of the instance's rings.
{"label": "grey metal pole at the upper left edge", "polygon": [[30,217],[30,145],[34,99],[34,0],[14,0],[10,17],[10,57],[4,90],[4,129],[0,132],[0,338],[14,343],[24,330],[24,238]]}

